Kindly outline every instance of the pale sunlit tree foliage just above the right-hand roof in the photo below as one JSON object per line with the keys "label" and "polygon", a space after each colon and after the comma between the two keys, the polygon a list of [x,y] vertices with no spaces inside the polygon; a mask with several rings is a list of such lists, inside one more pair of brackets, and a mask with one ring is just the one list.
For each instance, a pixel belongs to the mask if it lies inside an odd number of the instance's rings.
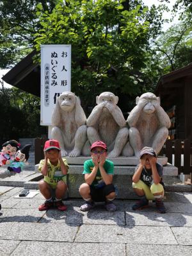
{"label": "pale sunlit tree foliage just above the right-hand roof", "polygon": [[163,74],[192,62],[191,28],[190,22],[181,21],[162,32],[152,44],[143,73],[154,88]]}

